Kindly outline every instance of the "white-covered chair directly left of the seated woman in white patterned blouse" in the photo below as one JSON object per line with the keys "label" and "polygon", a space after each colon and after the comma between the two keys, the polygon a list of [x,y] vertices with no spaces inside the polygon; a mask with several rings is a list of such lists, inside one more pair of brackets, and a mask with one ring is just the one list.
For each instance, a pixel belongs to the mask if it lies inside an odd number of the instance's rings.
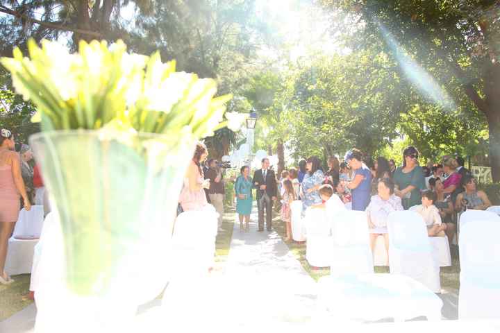
{"label": "white-covered chair directly left of the seated woman in white patterned blouse", "polygon": [[344,210],[332,221],[331,275],[373,273],[365,212]]}

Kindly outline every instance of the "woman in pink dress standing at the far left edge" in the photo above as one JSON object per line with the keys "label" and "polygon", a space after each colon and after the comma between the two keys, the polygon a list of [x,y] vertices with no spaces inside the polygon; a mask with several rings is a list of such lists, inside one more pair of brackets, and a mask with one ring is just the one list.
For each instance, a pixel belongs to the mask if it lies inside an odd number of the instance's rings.
{"label": "woman in pink dress standing at the far left edge", "polygon": [[3,268],[7,257],[8,239],[19,216],[19,194],[26,210],[31,204],[21,176],[21,159],[14,151],[14,135],[10,130],[0,130],[0,284],[14,282]]}

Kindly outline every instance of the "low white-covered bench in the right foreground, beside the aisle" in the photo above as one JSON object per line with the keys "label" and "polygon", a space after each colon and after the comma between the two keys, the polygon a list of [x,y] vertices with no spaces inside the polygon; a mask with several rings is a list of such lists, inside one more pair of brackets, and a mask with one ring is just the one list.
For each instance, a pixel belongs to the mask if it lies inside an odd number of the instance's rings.
{"label": "low white-covered bench in the right foreground, beside the aisle", "polygon": [[368,273],[319,279],[318,305],[338,321],[440,321],[442,300],[405,275]]}

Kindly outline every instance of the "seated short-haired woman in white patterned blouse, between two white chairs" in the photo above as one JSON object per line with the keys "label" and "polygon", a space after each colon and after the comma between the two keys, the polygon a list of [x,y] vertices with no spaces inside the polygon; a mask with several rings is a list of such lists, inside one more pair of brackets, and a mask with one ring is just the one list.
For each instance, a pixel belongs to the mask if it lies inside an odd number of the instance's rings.
{"label": "seated short-haired woman in white patterned blouse, between two white chairs", "polygon": [[389,235],[387,234],[387,218],[390,213],[403,210],[401,198],[394,195],[394,182],[390,178],[382,178],[378,182],[377,192],[372,196],[366,212],[369,227],[370,247],[375,250],[375,242],[379,235],[383,235],[385,251],[387,252],[387,265],[389,260]]}

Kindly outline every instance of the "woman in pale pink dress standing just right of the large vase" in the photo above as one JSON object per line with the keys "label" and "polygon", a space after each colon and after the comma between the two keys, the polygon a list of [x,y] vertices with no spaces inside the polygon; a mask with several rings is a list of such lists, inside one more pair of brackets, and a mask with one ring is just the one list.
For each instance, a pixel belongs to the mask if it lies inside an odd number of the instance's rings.
{"label": "woman in pale pink dress standing just right of the large vase", "polygon": [[202,210],[208,205],[205,191],[210,187],[210,179],[203,179],[201,164],[206,160],[206,146],[199,142],[184,178],[184,186],[179,197],[179,203],[184,211]]}

